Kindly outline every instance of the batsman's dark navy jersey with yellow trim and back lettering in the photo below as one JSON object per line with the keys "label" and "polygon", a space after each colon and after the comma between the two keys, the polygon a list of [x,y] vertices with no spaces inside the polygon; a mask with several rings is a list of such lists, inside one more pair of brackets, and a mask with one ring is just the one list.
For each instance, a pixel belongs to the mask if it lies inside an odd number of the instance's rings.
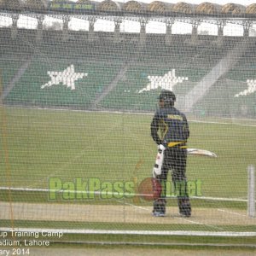
{"label": "batsman's dark navy jersey with yellow trim and back lettering", "polygon": [[160,108],[151,122],[151,137],[165,147],[184,145],[189,138],[186,116],[174,107]]}

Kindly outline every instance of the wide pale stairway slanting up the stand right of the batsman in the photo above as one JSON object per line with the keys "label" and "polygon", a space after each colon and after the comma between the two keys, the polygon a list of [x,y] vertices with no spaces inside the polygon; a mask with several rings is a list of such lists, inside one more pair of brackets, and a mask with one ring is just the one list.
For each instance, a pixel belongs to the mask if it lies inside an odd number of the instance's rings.
{"label": "wide pale stairway slanting up the stand right of the batsman", "polygon": [[255,40],[248,40],[247,38],[241,43],[236,44],[233,49],[227,53],[227,55],[218,62],[218,64],[212,68],[212,70],[207,73],[207,75],[201,79],[201,81],[195,85],[193,90],[190,90],[189,93],[185,96],[185,109],[184,111],[191,111],[195,106],[195,103],[198,102],[203,96],[206,95],[210,87],[215,84],[218,79],[230,71],[232,67],[241,59],[241,56],[246,52],[246,50],[255,44]]}

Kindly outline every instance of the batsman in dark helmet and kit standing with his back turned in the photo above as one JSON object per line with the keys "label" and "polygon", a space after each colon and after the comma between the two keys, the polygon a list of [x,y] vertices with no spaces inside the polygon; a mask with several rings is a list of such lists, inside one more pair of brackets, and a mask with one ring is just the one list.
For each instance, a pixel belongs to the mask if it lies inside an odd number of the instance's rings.
{"label": "batsman in dark helmet and kit standing with his back turned", "polygon": [[191,216],[186,178],[189,125],[186,116],[174,108],[175,101],[176,96],[171,90],[161,90],[159,109],[151,122],[151,137],[158,145],[152,178],[152,215],[155,217],[166,215],[166,180],[169,171],[172,172],[179,213],[182,217]]}

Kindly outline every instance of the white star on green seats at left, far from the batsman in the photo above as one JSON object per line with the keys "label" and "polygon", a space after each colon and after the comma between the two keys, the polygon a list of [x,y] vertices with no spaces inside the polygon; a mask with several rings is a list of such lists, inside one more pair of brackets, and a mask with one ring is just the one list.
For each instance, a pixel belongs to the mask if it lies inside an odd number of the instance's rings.
{"label": "white star on green seats at left, far from the batsman", "polygon": [[41,86],[41,89],[44,89],[45,87],[50,87],[54,84],[64,84],[67,85],[67,88],[71,88],[71,90],[75,90],[75,84],[74,82],[78,79],[83,79],[84,76],[86,77],[88,73],[75,73],[73,65],[70,65],[65,69],[63,72],[57,72],[57,71],[48,71],[47,72],[50,77],[50,81],[47,84],[44,84]]}

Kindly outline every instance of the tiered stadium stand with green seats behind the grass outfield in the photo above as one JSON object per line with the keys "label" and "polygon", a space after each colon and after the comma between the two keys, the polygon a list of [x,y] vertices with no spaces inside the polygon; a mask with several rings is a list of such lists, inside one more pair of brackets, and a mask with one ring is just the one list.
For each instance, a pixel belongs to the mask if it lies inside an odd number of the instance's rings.
{"label": "tiered stadium stand with green seats behind the grass outfield", "polygon": [[[227,59],[237,45],[238,48],[239,44],[246,45],[242,37],[224,37],[222,44],[217,44],[218,37],[207,35],[199,35],[197,44],[191,44],[189,34],[172,35],[169,45],[164,34],[147,33],[146,43],[141,45],[137,33],[119,33],[119,40],[115,41],[113,32],[95,32],[94,40],[90,41],[90,32],[69,31],[68,40],[63,40],[62,31],[44,30],[44,40],[38,41],[38,30],[34,29],[19,28],[16,38],[12,38],[9,27],[2,27],[0,32],[3,101],[44,108],[153,111],[158,90],[138,92],[150,84],[149,76],[162,77],[172,70],[176,75],[173,79],[183,79],[183,83],[172,86],[177,94],[177,106],[183,108],[184,101],[188,102],[186,96],[193,94],[196,84],[205,85],[203,78],[211,74],[213,67]],[[211,94],[218,95],[214,92],[221,89],[218,84],[237,84],[232,81],[239,80],[236,89],[230,86],[229,104],[233,109],[230,114],[241,114],[244,110],[239,111],[237,107],[241,99],[233,99],[233,95],[247,88],[247,79],[253,79],[252,47],[245,47],[244,52],[232,57],[235,62],[216,81],[212,80],[211,90],[199,89],[202,98],[183,110],[198,113],[198,109],[203,109],[200,113],[213,114],[216,101]],[[71,65],[76,73],[88,73],[76,81],[75,90],[63,84],[42,88],[50,80],[48,72],[64,72]],[[255,100],[251,97],[245,104],[254,116]]]}

